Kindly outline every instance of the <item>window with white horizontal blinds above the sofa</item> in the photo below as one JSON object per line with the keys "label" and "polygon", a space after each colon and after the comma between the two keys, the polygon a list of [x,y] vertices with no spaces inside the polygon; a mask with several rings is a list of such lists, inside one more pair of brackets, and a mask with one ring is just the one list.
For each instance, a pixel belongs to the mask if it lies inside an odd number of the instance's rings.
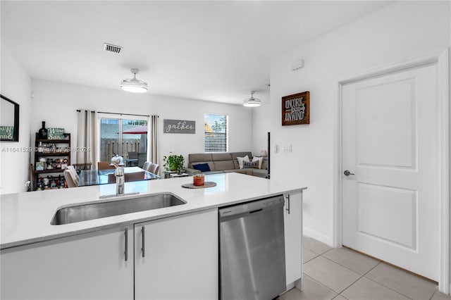
{"label": "window with white horizontal blinds above the sofa", "polygon": [[205,152],[228,151],[228,115],[205,114]]}

